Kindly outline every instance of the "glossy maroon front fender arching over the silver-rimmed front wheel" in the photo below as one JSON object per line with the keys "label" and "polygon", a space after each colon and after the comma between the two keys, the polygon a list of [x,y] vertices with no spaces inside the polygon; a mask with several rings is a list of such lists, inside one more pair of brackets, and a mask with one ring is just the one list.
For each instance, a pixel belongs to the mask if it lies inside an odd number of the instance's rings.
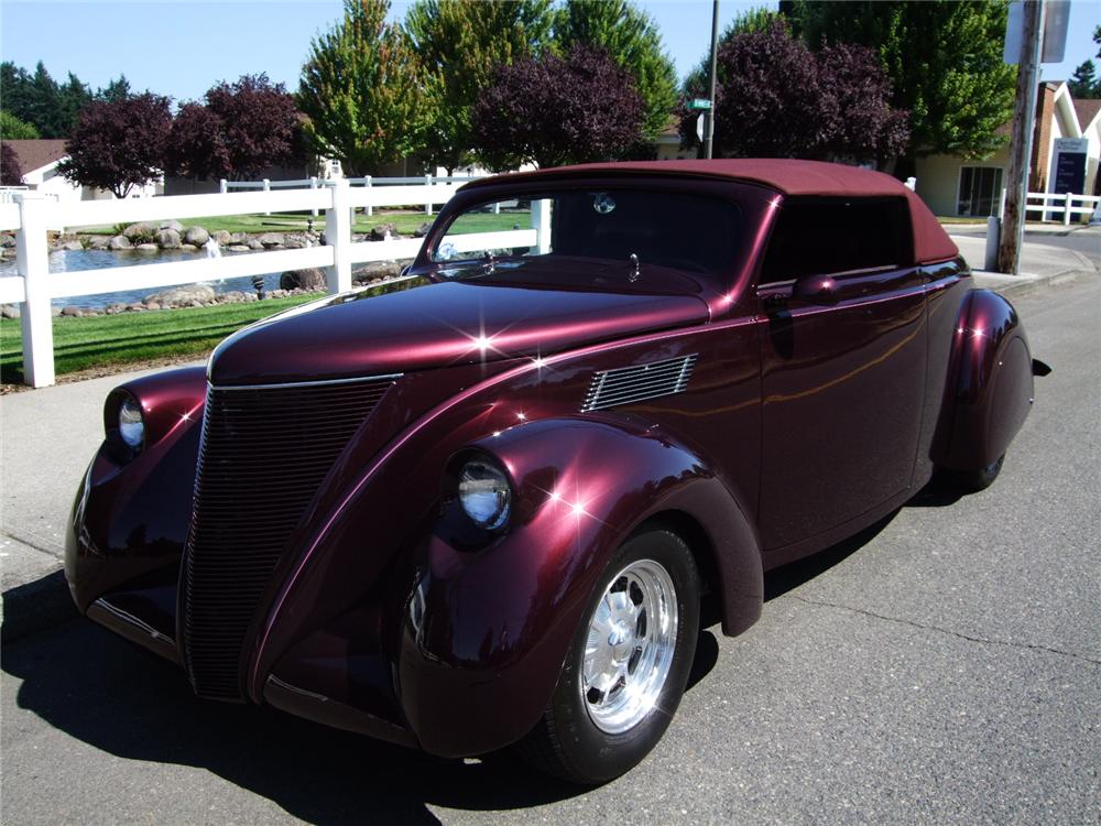
{"label": "glossy maroon front fender arching over the silver-rimmed front wheel", "polygon": [[473,447],[508,468],[514,515],[481,550],[456,547],[442,517],[423,547],[399,682],[426,750],[482,753],[531,730],[598,576],[647,520],[687,517],[718,550],[724,629],[760,616],[761,555],[746,511],[661,430],[611,416],[553,419]]}

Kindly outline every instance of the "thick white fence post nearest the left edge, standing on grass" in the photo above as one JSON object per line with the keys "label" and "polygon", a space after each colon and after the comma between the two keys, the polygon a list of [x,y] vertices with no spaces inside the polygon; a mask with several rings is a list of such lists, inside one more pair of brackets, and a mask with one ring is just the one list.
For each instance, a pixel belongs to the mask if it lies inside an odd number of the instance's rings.
{"label": "thick white fence post nearest the left edge, standing on grass", "polygon": [[23,383],[54,383],[54,319],[50,313],[50,250],[46,246],[46,198],[39,192],[14,193],[19,204],[15,233],[17,271],[23,276]]}

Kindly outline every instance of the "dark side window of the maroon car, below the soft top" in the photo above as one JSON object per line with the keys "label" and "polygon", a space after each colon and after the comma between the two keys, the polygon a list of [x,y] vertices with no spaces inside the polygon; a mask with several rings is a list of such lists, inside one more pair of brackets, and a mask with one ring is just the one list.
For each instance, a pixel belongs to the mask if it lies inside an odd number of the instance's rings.
{"label": "dark side window of the maroon car, below the soft top", "polygon": [[913,263],[904,198],[792,199],[781,207],[760,283]]}

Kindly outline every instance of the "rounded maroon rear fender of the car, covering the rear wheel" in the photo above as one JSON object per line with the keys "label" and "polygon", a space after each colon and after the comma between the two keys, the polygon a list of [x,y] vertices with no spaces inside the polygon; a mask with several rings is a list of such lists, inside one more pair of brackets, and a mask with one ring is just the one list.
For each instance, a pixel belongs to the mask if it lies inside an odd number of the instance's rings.
{"label": "rounded maroon rear fender of the car, covering the rear wheel", "polygon": [[1013,305],[989,290],[968,293],[953,336],[933,459],[979,470],[1005,453],[1028,416],[1032,354]]}

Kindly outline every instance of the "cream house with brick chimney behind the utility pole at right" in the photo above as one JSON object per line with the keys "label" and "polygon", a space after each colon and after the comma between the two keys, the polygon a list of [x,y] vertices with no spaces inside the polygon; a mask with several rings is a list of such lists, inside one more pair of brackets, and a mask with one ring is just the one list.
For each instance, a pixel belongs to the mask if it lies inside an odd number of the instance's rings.
{"label": "cream house with brick chimney behind the utility pole at right", "polygon": [[[1010,124],[1000,130],[1010,134]],[[1101,100],[1075,100],[1065,83],[1043,83],[1036,102],[1028,192],[1101,191]],[[917,161],[917,194],[936,215],[998,215],[1010,170],[1006,145],[983,161],[929,155]],[[1039,218],[1029,210],[1029,218]]]}

